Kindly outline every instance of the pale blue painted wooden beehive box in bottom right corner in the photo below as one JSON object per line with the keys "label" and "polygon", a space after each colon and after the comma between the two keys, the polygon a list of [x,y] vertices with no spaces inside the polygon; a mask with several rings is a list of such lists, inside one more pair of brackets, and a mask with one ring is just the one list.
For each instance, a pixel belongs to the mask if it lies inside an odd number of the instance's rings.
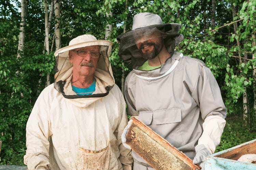
{"label": "pale blue painted wooden beehive box in bottom right corner", "polygon": [[205,170],[256,170],[256,164],[237,160],[245,154],[256,154],[256,139],[208,156]]}

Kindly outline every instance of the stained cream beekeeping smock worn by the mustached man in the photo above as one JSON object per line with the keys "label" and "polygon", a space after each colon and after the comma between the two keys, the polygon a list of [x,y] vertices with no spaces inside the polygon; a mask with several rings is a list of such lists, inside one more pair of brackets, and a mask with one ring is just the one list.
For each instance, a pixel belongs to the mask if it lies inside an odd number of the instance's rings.
{"label": "stained cream beekeeping smock worn by the mustached man", "polygon": [[[127,116],[119,88],[115,85],[109,95],[90,98],[89,103],[86,99],[64,98],[53,84],[42,91],[27,122],[24,163],[29,169],[49,169],[52,164],[61,170],[90,169],[93,164],[88,166],[81,149],[100,151],[106,147],[111,158],[109,167],[131,169],[130,150],[121,141]],[[57,164],[49,161],[49,137]],[[99,164],[96,155],[92,154],[91,161]]]}

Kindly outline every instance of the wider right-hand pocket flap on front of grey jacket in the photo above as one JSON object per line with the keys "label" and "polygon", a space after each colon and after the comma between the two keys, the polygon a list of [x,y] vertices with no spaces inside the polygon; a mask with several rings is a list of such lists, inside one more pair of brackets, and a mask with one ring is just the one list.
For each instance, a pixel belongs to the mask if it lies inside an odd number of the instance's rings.
{"label": "wider right-hand pocket flap on front of grey jacket", "polygon": [[155,124],[181,122],[181,108],[176,107],[153,111],[153,119]]}

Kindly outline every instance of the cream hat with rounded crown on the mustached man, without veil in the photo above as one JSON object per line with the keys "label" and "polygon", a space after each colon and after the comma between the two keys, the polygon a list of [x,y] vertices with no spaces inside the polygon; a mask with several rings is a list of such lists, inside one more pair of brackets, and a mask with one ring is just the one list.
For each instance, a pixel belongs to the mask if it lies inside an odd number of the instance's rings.
{"label": "cream hat with rounded crown on the mustached man, without veil", "polygon": [[[68,57],[69,50],[73,50],[76,48],[82,48],[87,46],[112,46],[112,42],[108,40],[97,40],[97,38],[93,35],[85,34],[80,35],[69,42],[69,45],[57,50],[54,55],[55,57]],[[109,48],[108,54],[110,53],[111,48]]]}

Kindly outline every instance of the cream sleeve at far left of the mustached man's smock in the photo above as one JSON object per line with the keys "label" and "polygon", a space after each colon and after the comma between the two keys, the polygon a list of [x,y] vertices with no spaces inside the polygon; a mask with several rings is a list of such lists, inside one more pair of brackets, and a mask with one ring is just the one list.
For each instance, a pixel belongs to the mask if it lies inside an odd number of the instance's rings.
{"label": "cream sleeve at far left of the mustached man's smock", "polygon": [[52,134],[49,130],[48,109],[44,94],[41,93],[35,102],[26,126],[27,151],[24,156],[24,163],[28,169],[51,169],[48,138]]}

